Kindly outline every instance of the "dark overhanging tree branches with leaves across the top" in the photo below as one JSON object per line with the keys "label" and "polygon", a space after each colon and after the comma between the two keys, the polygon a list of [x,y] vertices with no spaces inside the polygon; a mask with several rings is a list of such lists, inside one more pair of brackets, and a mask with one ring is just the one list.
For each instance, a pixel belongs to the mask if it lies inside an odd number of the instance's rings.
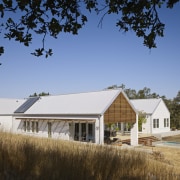
{"label": "dark overhanging tree branches with leaves across the top", "polygon": [[[144,39],[148,48],[156,47],[157,36],[164,36],[164,23],[158,14],[159,8],[173,6],[179,0],[2,0],[0,2],[0,34],[29,46],[35,34],[42,36],[42,47],[32,54],[35,56],[53,54],[45,48],[49,35],[57,38],[60,33],[78,34],[88,21],[87,12],[101,14],[100,23],[106,15],[116,14],[116,26],[127,32],[133,30]],[[0,55],[4,53],[0,46]]]}

